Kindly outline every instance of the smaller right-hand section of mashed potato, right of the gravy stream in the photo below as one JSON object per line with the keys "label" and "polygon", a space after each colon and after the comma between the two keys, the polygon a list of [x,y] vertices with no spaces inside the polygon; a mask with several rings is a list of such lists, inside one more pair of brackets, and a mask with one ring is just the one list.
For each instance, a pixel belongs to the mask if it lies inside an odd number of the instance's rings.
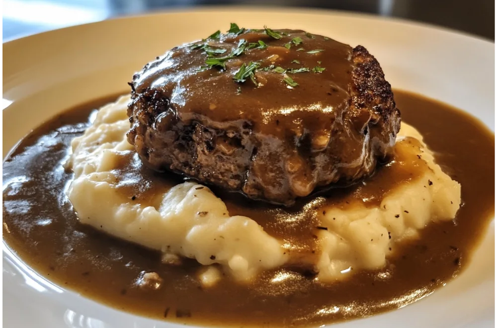
{"label": "smaller right-hand section of mashed potato, right of the gravy stream", "polygon": [[[427,223],[451,220],[461,202],[461,186],[434,163],[421,135],[402,124],[397,142],[406,137],[420,142],[418,148],[428,169],[409,183],[389,192],[379,207],[354,204],[352,209],[328,208],[318,234],[322,253],[317,267],[323,281],[339,278],[350,269],[378,269],[385,265],[395,244],[415,238]],[[429,186],[429,187],[428,187]]]}

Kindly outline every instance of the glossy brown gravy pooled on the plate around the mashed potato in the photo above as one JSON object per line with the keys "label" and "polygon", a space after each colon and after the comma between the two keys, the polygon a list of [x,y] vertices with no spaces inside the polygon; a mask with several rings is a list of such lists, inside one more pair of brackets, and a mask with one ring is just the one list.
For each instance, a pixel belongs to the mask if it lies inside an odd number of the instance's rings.
{"label": "glossy brown gravy pooled on the plate around the mashed potato", "polygon": [[[322,285],[305,274],[280,269],[266,272],[248,287],[225,279],[214,288],[202,289],[195,278],[198,265],[194,261],[181,267],[167,266],[161,264],[156,251],[80,225],[64,195],[71,175],[61,165],[71,139],[83,133],[91,109],[114,99],[101,99],[62,114],[27,136],[11,153],[3,164],[2,237],[46,278],[123,311],[216,326],[321,325],[374,315],[412,303],[457,276],[493,217],[493,134],[462,111],[397,90],[395,99],[403,120],[421,132],[437,154],[437,162],[462,185],[463,206],[454,222],[429,225],[419,240],[400,247],[384,269],[359,272],[347,281]],[[382,174],[388,175],[388,169],[380,168],[375,178]],[[378,190],[389,187],[388,183],[376,186]],[[358,186],[352,189],[326,196],[339,203],[347,192],[368,192]],[[267,218],[283,213],[278,207],[257,207],[214,191],[227,201],[231,215],[253,218],[257,213]],[[297,204],[295,211],[305,203],[309,200]],[[284,221],[285,215],[273,217]],[[270,221],[259,221],[271,230]],[[310,228],[300,226],[302,222]],[[287,231],[281,233],[296,238],[299,230],[311,233],[308,222],[312,220],[305,217],[294,226],[283,225]],[[136,288],[134,281],[141,271],[156,271],[166,283],[159,291]],[[381,278],[385,272],[387,279]],[[282,274],[289,278],[271,283],[275,275]],[[392,302],[414,292],[414,298]],[[351,311],[344,311],[346,307]]]}

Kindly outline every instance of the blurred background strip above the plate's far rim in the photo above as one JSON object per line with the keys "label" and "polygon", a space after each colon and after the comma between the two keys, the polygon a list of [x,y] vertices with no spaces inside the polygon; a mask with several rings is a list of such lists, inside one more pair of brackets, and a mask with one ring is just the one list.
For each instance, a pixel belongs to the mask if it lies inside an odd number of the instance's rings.
{"label": "blurred background strip above the plate's far rim", "polygon": [[314,7],[407,18],[496,39],[495,0],[2,0],[2,40],[149,11],[209,5]]}

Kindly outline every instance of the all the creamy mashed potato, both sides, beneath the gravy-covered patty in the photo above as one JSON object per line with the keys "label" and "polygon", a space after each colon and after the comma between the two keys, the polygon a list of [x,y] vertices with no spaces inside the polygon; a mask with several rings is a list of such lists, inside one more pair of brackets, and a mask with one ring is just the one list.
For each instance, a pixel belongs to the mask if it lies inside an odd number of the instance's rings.
{"label": "all the creamy mashed potato, both sides, beneath the gravy-covered patty", "polygon": [[[193,182],[178,184],[160,195],[159,205],[131,201],[116,190],[112,170],[133,152],[126,140],[129,97],[102,107],[92,124],[72,142],[67,166],[74,181],[67,194],[83,224],[108,234],[199,263],[219,263],[239,280],[262,270],[277,268],[289,260],[283,241],[268,235],[255,221],[230,216],[223,201]],[[399,134],[422,140],[404,124]],[[329,208],[322,217],[318,238],[321,254],[318,278],[333,281],[353,269],[381,268],[389,248],[413,238],[430,220],[451,220],[459,208],[460,185],[433,162],[422,144],[419,152],[429,166],[424,176],[391,190],[379,207]],[[427,180],[436,181],[425,188]],[[212,285],[220,279],[217,269],[205,269],[200,281]]]}

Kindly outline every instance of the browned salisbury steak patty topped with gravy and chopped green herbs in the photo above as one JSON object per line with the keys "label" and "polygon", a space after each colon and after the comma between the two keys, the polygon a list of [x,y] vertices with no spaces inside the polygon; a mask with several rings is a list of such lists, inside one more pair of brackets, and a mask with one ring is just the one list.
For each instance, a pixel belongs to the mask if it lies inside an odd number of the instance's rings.
{"label": "browned salisbury steak patty topped with gravy and chopped green herbs", "polygon": [[372,174],[400,128],[364,47],[300,30],[232,24],[130,84],[128,140],[146,164],[284,205]]}

